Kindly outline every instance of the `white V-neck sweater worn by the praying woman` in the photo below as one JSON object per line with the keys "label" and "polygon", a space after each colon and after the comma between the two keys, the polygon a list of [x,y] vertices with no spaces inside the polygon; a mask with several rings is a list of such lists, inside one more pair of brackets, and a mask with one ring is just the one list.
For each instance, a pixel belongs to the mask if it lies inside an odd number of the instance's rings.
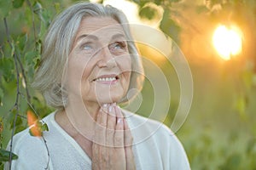
{"label": "white V-neck sweater worn by the praying woman", "polygon": [[[133,153],[137,170],[187,170],[189,161],[182,144],[164,124],[125,111],[133,136]],[[55,112],[44,118],[49,132],[44,140],[32,137],[28,129],[14,137],[13,152],[19,156],[12,161],[15,170],[80,170],[91,169],[90,157],[79,144],[55,122]],[[6,163],[5,169],[9,165]]]}

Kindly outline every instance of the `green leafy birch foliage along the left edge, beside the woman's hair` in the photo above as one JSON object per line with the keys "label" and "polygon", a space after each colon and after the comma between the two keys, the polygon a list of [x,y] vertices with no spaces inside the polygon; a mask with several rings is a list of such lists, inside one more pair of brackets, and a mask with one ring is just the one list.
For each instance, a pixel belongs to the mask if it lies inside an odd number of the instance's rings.
{"label": "green leafy birch foliage along the left edge, beside the woman's hair", "polygon": [[[27,127],[26,111],[35,109],[39,118],[51,111],[30,83],[40,62],[44,34],[60,8],[58,1],[0,1],[0,33],[4,35],[0,38],[0,169],[2,161],[9,161],[11,152],[4,148],[12,133]],[[40,127],[48,129],[43,122]],[[17,158],[12,153],[12,159]]]}

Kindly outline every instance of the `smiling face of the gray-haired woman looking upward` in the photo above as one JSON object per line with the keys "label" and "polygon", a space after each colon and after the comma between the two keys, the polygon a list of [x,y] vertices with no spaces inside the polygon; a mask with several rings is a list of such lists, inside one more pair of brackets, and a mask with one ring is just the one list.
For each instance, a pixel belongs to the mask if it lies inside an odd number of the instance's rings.
{"label": "smiling face of the gray-haired woman looking upward", "polygon": [[86,17],[79,26],[67,66],[68,98],[113,103],[130,84],[131,57],[125,31],[111,17]]}

